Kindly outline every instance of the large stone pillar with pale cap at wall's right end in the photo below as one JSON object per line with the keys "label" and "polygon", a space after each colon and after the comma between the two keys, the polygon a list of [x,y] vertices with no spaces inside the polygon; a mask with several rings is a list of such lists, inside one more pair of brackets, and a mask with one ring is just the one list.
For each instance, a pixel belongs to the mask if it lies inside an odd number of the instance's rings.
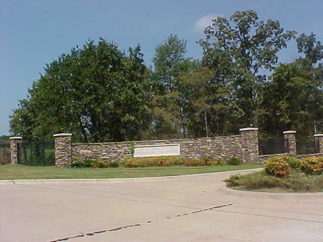
{"label": "large stone pillar with pale cap at wall's right end", "polygon": [[241,159],[244,163],[259,161],[258,128],[243,128],[241,133]]}

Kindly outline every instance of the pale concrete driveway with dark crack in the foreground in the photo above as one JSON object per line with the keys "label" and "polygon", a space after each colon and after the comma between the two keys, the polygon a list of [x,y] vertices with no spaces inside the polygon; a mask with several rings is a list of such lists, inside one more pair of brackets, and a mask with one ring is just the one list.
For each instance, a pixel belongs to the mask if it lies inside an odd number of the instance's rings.
{"label": "pale concrete driveway with dark crack in the foreground", "polygon": [[0,241],[323,241],[323,194],[225,188],[245,172],[0,185]]}

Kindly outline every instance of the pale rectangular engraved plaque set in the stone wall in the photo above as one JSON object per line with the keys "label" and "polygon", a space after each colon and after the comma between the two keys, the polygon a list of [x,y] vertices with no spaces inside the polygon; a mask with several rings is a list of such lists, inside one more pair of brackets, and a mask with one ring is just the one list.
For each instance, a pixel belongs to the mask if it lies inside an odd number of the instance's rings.
{"label": "pale rectangular engraved plaque set in the stone wall", "polygon": [[181,155],[180,144],[138,145],[133,157],[155,157]]}

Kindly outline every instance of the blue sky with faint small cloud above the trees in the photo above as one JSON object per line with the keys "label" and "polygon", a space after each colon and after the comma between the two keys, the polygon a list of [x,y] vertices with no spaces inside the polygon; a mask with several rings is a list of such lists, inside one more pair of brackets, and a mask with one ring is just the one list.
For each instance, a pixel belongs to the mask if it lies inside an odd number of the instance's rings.
{"label": "blue sky with faint small cloud above the trees", "polygon": [[[4,1],[0,0],[0,135],[9,134],[9,115],[25,98],[46,63],[75,45],[100,36],[121,49],[142,47],[151,64],[156,44],[171,33],[187,40],[187,56],[201,57],[195,43],[211,17],[253,9],[259,19],[279,20],[284,29],[313,31],[323,41],[323,1]],[[281,62],[298,53],[291,41]]]}

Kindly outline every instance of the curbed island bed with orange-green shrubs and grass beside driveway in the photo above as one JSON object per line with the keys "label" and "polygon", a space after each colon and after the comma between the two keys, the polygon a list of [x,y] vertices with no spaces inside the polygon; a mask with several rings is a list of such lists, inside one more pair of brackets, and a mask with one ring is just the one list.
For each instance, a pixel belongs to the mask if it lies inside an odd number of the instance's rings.
{"label": "curbed island bed with orange-green shrubs and grass beside driveway", "polygon": [[231,175],[224,180],[236,190],[256,192],[323,192],[323,158],[276,156],[265,162],[262,171]]}

